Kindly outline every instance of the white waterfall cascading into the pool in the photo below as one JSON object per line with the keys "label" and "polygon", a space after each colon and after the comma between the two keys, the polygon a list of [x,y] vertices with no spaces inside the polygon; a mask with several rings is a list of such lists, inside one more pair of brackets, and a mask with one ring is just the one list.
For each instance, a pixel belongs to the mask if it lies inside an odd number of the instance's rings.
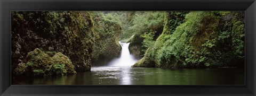
{"label": "white waterfall cascading into the pool", "polygon": [[137,59],[135,59],[129,51],[129,43],[122,43],[119,41],[119,44],[122,47],[122,51],[121,51],[121,57],[117,58],[117,59],[113,59],[109,65],[110,66],[132,66],[133,64],[135,64],[137,62]]}

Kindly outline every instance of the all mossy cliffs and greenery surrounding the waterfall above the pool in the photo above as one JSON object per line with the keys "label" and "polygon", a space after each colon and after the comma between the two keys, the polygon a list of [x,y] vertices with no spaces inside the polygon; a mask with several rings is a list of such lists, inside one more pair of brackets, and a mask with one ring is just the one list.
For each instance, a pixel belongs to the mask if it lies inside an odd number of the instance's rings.
{"label": "all mossy cliffs and greenery surrounding the waterfall above the pool", "polygon": [[244,67],[244,12],[12,12],[12,72],[20,76],[90,71],[120,55],[133,67]]}

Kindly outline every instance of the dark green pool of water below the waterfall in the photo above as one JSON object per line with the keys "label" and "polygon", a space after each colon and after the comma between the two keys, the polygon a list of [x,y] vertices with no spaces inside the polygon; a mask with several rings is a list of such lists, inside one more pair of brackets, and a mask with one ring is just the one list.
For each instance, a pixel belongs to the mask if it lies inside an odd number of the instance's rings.
{"label": "dark green pool of water below the waterfall", "polygon": [[163,69],[92,67],[68,76],[13,78],[13,85],[244,85],[244,68]]}

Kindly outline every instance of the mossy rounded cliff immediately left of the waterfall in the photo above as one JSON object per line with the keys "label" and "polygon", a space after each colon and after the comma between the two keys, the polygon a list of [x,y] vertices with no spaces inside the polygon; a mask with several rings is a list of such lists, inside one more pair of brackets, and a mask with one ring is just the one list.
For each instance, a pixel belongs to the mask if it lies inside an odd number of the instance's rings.
{"label": "mossy rounded cliff immediately left of the waterfall", "polygon": [[111,59],[120,55],[121,46],[118,39],[121,27],[113,14],[91,12],[95,42],[92,53],[92,63],[95,66],[107,65]]}

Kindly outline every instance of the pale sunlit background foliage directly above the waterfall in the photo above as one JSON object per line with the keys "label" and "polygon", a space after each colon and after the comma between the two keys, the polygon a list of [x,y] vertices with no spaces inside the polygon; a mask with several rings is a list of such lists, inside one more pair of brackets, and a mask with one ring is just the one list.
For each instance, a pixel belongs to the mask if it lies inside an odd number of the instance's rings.
{"label": "pale sunlit background foliage directly above the waterfall", "polygon": [[[134,34],[139,36],[149,30],[161,32],[163,29],[164,12],[117,12],[122,34],[119,40],[129,39]],[[118,20],[117,20],[118,21]]]}

